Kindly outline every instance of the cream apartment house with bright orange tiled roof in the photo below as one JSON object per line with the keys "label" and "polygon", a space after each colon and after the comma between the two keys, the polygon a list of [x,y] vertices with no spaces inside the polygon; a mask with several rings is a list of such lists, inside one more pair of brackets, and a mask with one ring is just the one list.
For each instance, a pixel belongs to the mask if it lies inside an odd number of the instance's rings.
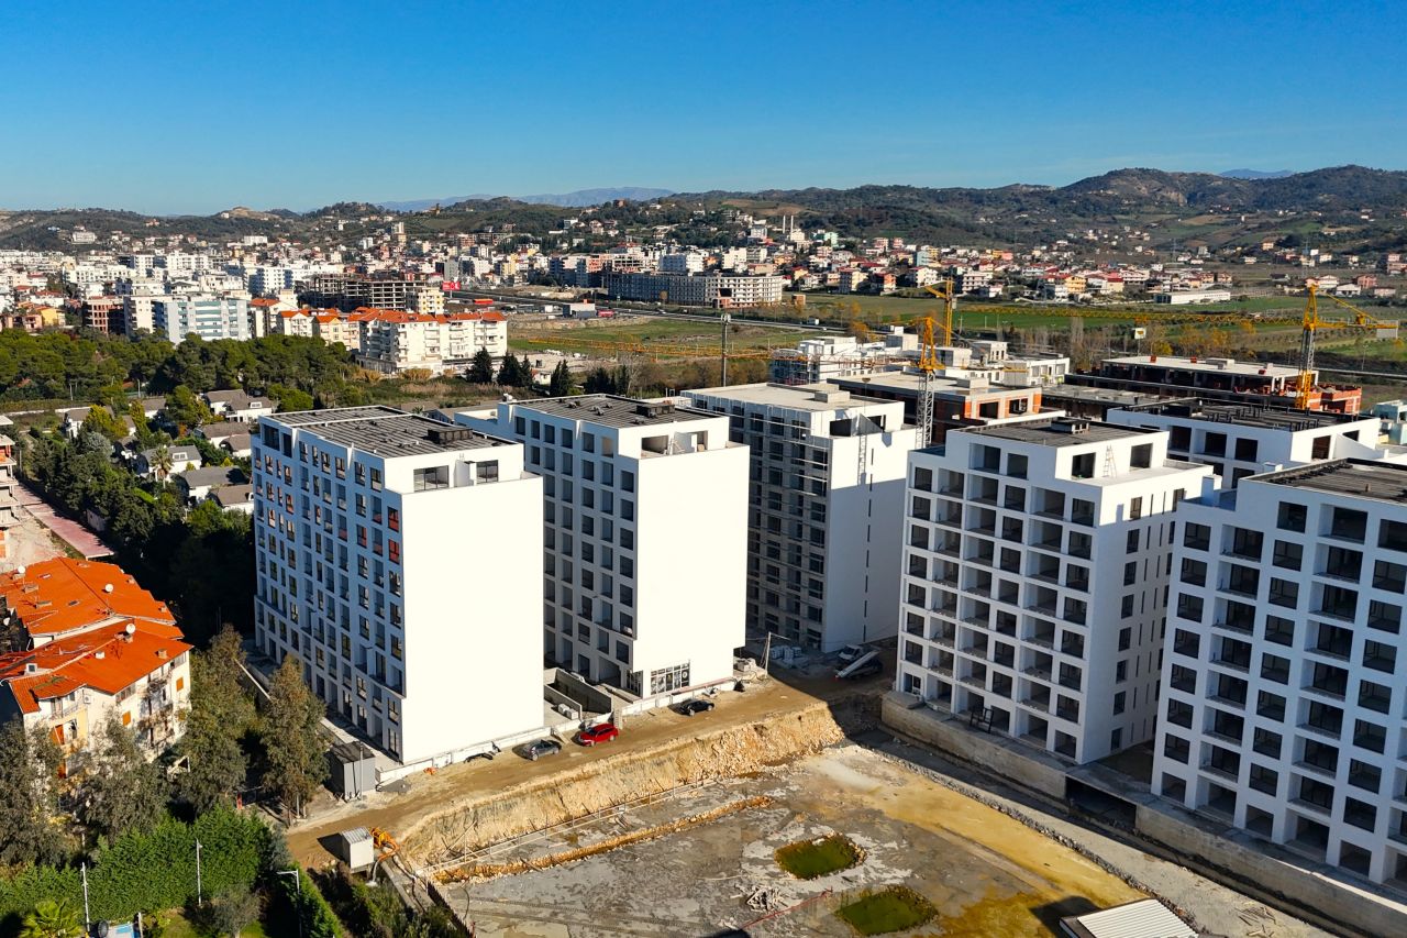
{"label": "cream apartment house with bright orange tiled roof", "polygon": [[0,649],[0,721],[44,727],[65,759],[110,714],[151,758],[184,730],[190,645],[165,603],[113,563],[56,558],[0,576],[10,646]]}

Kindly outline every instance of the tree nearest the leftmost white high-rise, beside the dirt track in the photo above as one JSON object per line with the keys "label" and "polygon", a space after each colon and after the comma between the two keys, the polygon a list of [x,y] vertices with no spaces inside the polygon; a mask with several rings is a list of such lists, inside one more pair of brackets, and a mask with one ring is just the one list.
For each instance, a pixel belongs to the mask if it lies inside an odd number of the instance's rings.
{"label": "tree nearest the leftmost white high-rise, beside the dirt track", "polygon": [[283,800],[284,808],[303,814],[303,804],[328,777],[326,746],[322,742],[322,701],[303,683],[303,662],[297,655],[283,659],[269,687],[265,714],[265,749],[269,772],[265,782]]}

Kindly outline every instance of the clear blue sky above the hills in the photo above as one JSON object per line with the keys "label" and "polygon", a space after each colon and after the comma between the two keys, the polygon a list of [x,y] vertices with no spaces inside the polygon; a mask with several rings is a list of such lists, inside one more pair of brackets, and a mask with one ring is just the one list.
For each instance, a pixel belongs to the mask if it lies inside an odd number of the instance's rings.
{"label": "clear blue sky above the hills", "polygon": [[1407,168],[1407,3],[6,3],[0,207]]}

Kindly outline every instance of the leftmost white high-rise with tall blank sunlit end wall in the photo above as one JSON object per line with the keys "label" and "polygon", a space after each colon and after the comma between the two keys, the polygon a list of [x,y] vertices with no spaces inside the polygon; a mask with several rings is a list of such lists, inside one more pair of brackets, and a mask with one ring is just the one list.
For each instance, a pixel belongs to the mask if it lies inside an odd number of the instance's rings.
{"label": "leftmost white high-rise with tall blank sunlit end wall", "polygon": [[348,407],[262,418],[252,465],[260,652],[298,655],[401,762],[542,725],[542,577],[522,562],[542,479],[521,445]]}

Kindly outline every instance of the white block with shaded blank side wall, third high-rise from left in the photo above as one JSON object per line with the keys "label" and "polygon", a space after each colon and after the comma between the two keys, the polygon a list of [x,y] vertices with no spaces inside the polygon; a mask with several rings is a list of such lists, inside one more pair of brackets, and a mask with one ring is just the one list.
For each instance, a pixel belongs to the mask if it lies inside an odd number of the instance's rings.
{"label": "white block with shaded blank side wall, third high-rise from left", "polygon": [[750,454],[747,628],[823,652],[898,632],[903,403],[834,384],[685,392]]}

